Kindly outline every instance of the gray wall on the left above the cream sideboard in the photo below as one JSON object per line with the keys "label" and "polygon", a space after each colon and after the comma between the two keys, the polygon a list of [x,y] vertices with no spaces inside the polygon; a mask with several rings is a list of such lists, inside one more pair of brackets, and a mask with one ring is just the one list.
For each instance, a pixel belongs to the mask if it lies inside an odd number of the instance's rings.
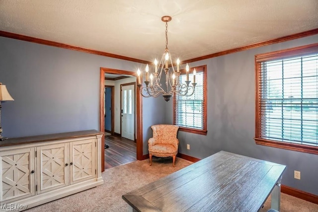
{"label": "gray wall on the left above the cream sideboard", "polygon": [[[1,103],[2,136],[98,130],[100,67],[136,71],[145,65],[0,37],[0,81],[14,99]],[[144,110],[143,117],[152,116]]]}

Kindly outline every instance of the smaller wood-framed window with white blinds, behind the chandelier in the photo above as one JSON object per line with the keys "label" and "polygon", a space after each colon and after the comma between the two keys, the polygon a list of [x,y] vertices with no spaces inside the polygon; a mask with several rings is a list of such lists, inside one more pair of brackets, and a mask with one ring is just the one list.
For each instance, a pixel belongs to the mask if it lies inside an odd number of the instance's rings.
{"label": "smaller wood-framed window with white blinds, behind the chandelier", "polygon": [[[191,96],[173,97],[173,123],[180,131],[206,135],[206,66],[194,67],[196,73],[195,92]],[[190,70],[189,80],[193,81],[193,69]],[[182,71],[183,73],[183,71]],[[184,82],[185,74],[180,75]]]}

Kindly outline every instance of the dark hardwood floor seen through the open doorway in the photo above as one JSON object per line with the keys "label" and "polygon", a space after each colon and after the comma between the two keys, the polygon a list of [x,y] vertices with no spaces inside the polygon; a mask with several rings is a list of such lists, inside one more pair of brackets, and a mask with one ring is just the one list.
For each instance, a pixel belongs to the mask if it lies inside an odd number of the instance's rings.
{"label": "dark hardwood floor seen through the open doorway", "polygon": [[136,143],[119,136],[105,136],[105,169],[133,162],[136,158]]}

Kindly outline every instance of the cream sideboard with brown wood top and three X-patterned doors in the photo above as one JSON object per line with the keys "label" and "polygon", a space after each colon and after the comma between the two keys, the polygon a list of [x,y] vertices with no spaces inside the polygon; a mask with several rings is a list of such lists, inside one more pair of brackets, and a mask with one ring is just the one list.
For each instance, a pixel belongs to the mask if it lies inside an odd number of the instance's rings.
{"label": "cream sideboard with brown wood top and three X-patterned doors", "polygon": [[92,130],[1,141],[0,205],[29,209],[102,185],[101,137]]}

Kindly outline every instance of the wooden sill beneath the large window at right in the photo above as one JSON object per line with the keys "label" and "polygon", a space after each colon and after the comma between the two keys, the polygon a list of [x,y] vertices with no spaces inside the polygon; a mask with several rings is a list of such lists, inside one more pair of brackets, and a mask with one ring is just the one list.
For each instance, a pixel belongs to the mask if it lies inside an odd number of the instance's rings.
{"label": "wooden sill beneath the large window at right", "polygon": [[272,146],[276,148],[289,149],[293,151],[301,151],[311,154],[318,154],[318,146],[311,146],[305,144],[289,143],[284,141],[271,141],[265,139],[254,138],[255,143],[259,145]]}

